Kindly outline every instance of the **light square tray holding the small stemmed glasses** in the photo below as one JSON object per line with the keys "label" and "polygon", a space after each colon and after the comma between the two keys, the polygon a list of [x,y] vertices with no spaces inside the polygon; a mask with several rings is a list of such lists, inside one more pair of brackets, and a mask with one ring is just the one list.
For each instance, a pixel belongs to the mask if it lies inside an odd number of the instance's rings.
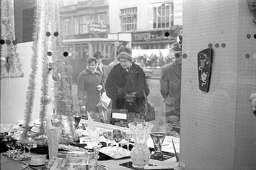
{"label": "light square tray holding the small stemmed glasses", "polygon": [[104,153],[113,159],[129,158],[131,156],[131,151],[121,147],[119,147],[119,152],[117,152],[117,147],[113,147],[113,150],[111,150],[111,147],[101,147],[100,153]]}

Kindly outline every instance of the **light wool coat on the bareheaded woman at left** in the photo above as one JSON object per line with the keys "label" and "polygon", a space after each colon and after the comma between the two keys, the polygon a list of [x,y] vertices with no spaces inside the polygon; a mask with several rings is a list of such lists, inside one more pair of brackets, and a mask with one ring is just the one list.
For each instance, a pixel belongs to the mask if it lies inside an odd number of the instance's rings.
{"label": "light wool coat on the bareheaded woman at left", "polygon": [[83,101],[83,104],[79,102],[79,106],[85,105],[88,112],[99,112],[98,108],[96,108],[96,104],[100,101],[100,91],[97,90],[98,85],[103,86],[103,80],[99,71],[96,70],[92,74],[88,69],[85,69],[79,74],[77,97],[78,101]]}

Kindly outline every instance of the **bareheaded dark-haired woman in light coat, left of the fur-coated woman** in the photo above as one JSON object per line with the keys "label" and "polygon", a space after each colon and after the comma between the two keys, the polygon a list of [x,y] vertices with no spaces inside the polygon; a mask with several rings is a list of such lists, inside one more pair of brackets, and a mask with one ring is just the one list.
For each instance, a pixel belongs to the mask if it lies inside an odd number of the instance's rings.
{"label": "bareheaded dark-haired woman in light coat, left of the fur-coated woman", "polygon": [[99,112],[96,104],[100,101],[99,91],[103,90],[103,81],[101,73],[96,70],[97,66],[97,59],[95,57],[89,57],[86,69],[78,76],[77,97],[80,113],[82,114],[85,111]]}

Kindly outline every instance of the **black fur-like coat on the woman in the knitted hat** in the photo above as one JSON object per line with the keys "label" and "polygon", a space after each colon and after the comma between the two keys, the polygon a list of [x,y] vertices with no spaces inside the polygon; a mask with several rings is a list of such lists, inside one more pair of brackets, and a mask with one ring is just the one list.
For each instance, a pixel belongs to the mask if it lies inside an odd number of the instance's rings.
{"label": "black fur-like coat on the woman in the knitted hat", "polygon": [[[146,76],[143,69],[134,62],[131,62],[129,72],[119,64],[115,65],[107,77],[106,93],[112,99],[113,109],[128,109],[128,112],[140,112],[143,107],[144,94],[149,95],[149,85],[146,82]],[[137,92],[137,99],[133,103],[125,100],[125,94]]]}

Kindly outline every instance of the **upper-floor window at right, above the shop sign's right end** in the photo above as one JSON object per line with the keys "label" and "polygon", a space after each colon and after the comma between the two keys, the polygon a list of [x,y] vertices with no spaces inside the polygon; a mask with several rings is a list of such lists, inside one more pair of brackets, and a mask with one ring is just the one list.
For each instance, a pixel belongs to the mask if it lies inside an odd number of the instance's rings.
{"label": "upper-floor window at right, above the shop sign's right end", "polygon": [[173,2],[154,7],[153,28],[170,28],[173,26]]}

